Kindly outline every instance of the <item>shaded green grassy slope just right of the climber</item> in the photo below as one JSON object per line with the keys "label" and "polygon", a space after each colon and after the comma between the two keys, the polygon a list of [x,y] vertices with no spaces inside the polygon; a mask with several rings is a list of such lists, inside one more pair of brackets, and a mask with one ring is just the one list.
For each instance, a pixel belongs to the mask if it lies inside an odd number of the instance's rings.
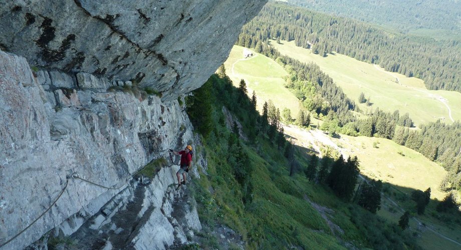
{"label": "shaded green grassy slope just right of the climber", "polygon": [[[224,223],[241,233],[247,242],[260,238],[258,244],[263,249],[282,249],[288,245],[299,245],[305,249],[345,249],[330,233],[321,215],[302,198],[303,193],[297,183],[287,176],[283,155],[273,154],[273,159],[279,161],[269,159],[269,163],[266,161],[268,158],[262,158],[253,148],[246,148],[255,168],[251,177],[253,202],[245,209],[240,199],[240,185],[232,177],[232,169],[222,163],[222,157],[215,153],[214,146],[209,148],[205,144],[204,149],[208,152],[208,175],[202,174],[198,181],[205,190],[214,190],[212,195],[204,190],[194,195],[202,206],[198,211],[204,223],[210,225],[215,220]],[[264,144],[262,151],[265,150],[273,149]],[[276,167],[278,173],[268,167]],[[335,199],[333,194],[328,195],[330,199]],[[256,244],[253,242],[247,247],[255,248]]]}

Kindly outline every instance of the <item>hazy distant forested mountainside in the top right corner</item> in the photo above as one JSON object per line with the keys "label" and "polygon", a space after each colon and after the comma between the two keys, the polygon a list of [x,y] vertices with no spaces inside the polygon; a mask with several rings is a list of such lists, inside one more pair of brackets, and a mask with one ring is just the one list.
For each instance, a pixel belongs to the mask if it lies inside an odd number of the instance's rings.
{"label": "hazy distant forested mountainside in the top right corner", "polygon": [[288,3],[403,32],[419,28],[461,31],[461,2],[457,0],[446,0],[443,4],[438,0],[289,0]]}

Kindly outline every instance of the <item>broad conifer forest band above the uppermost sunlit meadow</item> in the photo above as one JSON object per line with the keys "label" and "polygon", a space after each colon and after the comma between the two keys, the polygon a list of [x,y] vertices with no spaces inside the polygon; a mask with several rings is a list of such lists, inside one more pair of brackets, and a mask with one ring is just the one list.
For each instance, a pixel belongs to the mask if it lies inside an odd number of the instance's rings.
{"label": "broad conifer forest band above the uppermost sunlit meadow", "polygon": [[319,56],[337,52],[424,80],[428,89],[461,91],[461,42],[410,36],[354,19],[269,2],[244,25],[238,44],[294,40]]}

